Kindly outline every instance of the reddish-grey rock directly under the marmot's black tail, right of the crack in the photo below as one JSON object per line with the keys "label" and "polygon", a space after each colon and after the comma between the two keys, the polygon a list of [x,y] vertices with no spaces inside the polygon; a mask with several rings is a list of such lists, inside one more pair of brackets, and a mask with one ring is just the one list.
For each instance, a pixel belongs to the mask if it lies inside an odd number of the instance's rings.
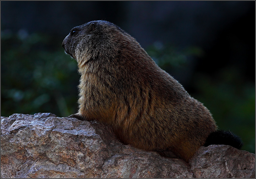
{"label": "reddish-grey rock directly under the marmot's black tail, right of the crack", "polygon": [[229,145],[200,147],[189,164],[195,178],[255,178],[255,154]]}

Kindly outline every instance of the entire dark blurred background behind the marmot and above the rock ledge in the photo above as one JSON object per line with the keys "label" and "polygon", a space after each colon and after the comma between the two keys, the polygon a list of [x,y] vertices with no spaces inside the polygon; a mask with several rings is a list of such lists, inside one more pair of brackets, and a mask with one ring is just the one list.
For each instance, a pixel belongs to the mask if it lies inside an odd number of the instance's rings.
{"label": "entire dark blurred background behind the marmot and above the rock ledge", "polygon": [[1,116],[78,110],[71,28],[117,24],[255,153],[255,1],[1,1]]}

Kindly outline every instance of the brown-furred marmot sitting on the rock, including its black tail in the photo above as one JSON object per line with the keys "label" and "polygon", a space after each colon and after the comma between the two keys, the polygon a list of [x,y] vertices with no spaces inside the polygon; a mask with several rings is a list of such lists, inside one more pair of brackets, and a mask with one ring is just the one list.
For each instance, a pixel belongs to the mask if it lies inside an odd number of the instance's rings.
{"label": "brown-furred marmot sitting on the rock, including its black tail", "polygon": [[[234,134],[217,130],[210,111],[115,24],[74,27],[62,46],[81,74],[79,112],[69,117],[108,124],[124,144],[168,149],[186,162],[212,140],[242,146]],[[222,136],[232,142],[223,143]]]}

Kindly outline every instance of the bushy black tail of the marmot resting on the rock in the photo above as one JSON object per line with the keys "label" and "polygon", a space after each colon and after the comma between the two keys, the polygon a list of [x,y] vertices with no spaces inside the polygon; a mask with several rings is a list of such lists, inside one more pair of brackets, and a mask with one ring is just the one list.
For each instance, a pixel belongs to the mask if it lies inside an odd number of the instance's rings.
{"label": "bushy black tail of the marmot resting on the rock", "polygon": [[236,149],[241,149],[243,142],[239,136],[225,130],[216,130],[211,133],[204,144],[205,147],[209,145],[230,145]]}

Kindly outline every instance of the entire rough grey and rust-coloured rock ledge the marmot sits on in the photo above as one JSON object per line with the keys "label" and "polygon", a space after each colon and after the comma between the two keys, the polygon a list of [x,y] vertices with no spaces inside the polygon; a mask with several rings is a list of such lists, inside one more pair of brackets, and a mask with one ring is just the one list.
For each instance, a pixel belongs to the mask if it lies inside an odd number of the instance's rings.
{"label": "entire rough grey and rust-coloured rock ledge the marmot sits on", "polygon": [[1,117],[1,178],[255,178],[255,154],[211,145],[186,163],[124,145],[97,122],[13,114]]}

